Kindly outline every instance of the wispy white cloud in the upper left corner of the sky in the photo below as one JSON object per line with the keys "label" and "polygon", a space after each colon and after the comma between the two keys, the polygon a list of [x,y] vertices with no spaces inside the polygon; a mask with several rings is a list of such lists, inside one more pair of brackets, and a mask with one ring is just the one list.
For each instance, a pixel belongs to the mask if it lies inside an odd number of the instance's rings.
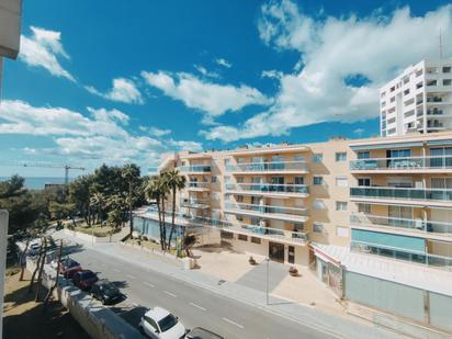
{"label": "wispy white cloud in the upper left corner of the sky", "polygon": [[57,58],[60,56],[69,59],[61,44],[61,33],[34,26],[31,30],[30,37],[21,36],[20,59],[29,66],[43,67],[54,76],[75,82],[76,79],[63,68]]}

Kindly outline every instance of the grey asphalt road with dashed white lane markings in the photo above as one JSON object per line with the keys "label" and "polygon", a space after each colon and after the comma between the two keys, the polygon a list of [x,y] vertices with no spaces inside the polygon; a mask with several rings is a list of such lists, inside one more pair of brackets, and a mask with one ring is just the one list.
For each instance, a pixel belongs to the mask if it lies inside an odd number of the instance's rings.
{"label": "grey asphalt road with dashed white lane markings", "polygon": [[201,326],[225,338],[337,338],[89,248],[70,257],[122,287],[127,298],[111,307],[134,326],[146,308],[160,306],[179,316],[187,328]]}

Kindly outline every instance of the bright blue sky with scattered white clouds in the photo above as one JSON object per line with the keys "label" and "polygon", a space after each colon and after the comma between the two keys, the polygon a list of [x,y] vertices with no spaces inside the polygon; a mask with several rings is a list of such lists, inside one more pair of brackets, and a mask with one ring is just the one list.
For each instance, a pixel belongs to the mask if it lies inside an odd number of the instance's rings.
{"label": "bright blue sky with scattered white clouds", "polygon": [[439,58],[440,31],[451,57],[448,1],[24,1],[0,177],[374,136],[378,88]]}

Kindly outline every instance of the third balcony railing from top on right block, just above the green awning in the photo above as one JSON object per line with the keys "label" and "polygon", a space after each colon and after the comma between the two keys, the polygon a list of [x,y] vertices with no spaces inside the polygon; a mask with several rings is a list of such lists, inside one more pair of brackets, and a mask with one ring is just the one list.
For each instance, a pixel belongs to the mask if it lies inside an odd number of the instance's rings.
{"label": "third balcony railing from top on right block, just above the green awning", "polygon": [[422,221],[422,219],[407,219],[395,218],[382,215],[369,215],[369,214],[351,214],[350,224],[352,226],[369,226],[369,227],[396,227],[410,230],[420,230],[425,233],[437,233],[448,236],[452,236],[452,224],[436,222],[436,221]]}

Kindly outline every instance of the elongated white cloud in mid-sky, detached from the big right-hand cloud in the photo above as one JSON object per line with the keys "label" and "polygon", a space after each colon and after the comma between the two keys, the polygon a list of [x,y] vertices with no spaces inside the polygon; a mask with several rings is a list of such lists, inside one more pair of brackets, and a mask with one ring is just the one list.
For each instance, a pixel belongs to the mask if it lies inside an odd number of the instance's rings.
{"label": "elongated white cloud in mid-sky, detached from the big right-hand cloud", "polygon": [[142,76],[149,86],[160,89],[166,95],[182,101],[188,108],[205,112],[207,121],[247,105],[271,103],[259,90],[245,84],[217,84],[185,72],[143,71]]}

